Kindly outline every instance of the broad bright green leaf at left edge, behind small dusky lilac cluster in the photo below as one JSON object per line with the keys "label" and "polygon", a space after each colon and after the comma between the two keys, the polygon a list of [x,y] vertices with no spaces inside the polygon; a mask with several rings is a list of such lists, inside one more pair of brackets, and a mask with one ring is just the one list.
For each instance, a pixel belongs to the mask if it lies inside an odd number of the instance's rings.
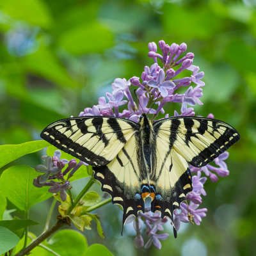
{"label": "broad bright green leaf at left edge, behind small dusky lilac cluster", "polygon": [[33,179],[39,175],[33,168],[26,165],[11,166],[0,177],[0,186],[4,195],[22,211],[51,197],[49,188],[36,188]]}

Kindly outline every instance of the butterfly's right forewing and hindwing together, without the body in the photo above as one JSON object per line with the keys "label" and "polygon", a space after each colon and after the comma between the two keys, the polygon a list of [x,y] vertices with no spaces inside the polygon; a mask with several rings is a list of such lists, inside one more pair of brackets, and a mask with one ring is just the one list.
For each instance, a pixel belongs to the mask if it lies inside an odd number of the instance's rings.
{"label": "butterfly's right forewing and hindwing together, without the body", "polygon": [[192,190],[188,164],[205,166],[239,140],[230,125],[210,118],[174,117],[154,123],[157,164],[151,180],[156,186],[152,211],[172,218]]}

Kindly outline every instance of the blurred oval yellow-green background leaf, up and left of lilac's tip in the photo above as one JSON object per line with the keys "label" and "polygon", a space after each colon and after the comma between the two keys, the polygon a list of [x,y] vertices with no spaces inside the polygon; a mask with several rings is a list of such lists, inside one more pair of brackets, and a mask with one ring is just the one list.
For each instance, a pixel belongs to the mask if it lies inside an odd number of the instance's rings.
{"label": "blurred oval yellow-green background leaf, up and left of lilac's tip", "polygon": [[97,22],[86,22],[66,31],[60,37],[60,45],[72,54],[102,52],[113,46],[113,35]]}

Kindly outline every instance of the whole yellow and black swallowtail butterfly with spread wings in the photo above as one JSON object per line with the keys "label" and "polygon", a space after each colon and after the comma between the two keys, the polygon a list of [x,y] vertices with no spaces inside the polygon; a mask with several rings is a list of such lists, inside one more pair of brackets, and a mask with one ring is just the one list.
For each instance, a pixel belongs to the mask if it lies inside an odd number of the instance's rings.
{"label": "whole yellow and black swallowtail butterfly with spread wings", "polygon": [[189,164],[202,167],[239,140],[232,126],[219,120],[177,116],[154,124],[143,113],[138,123],[113,116],[74,117],[48,125],[41,137],[93,166],[102,191],[130,215],[151,211],[173,221],[192,190]]}

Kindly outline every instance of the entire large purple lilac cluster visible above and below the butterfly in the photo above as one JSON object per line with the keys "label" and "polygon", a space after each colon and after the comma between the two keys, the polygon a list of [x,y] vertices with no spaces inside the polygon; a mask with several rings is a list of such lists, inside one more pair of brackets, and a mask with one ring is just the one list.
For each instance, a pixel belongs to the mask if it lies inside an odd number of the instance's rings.
{"label": "entire large purple lilac cluster visible above and below the butterfly", "polygon": [[[145,66],[141,77],[134,76],[128,81],[125,78],[116,78],[112,84],[113,92],[106,93],[108,102],[105,97],[100,97],[99,104],[93,106],[93,108],[84,109],[79,116],[116,116],[138,122],[142,113],[148,113],[153,115],[152,120],[156,120],[159,113],[164,114],[164,106],[168,102],[181,104],[180,114],[175,110],[173,116],[195,116],[192,106],[203,104],[200,97],[203,95],[202,88],[205,86],[205,83],[201,80],[204,77],[204,72],[199,72],[199,67],[193,65],[193,52],[185,54],[187,49],[185,43],[168,45],[161,40],[158,45],[161,54],[157,53],[155,42],[148,44],[148,57],[152,58],[154,63],[151,67]],[[158,61],[161,62],[161,66]],[[182,76],[182,74],[186,74],[186,76]],[[132,98],[131,86],[136,89],[137,103]],[[182,90],[182,88],[185,88],[185,90]],[[153,108],[150,107],[152,104],[154,104]],[[121,106],[124,109],[122,111],[120,111]],[[165,118],[167,117],[169,117],[168,113],[165,115]],[[213,115],[209,114],[208,117],[213,118]],[[227,157],[228,153],[224,152],[214,160],[214,163],[219,167],[211,164],[202,168],[190,166],[191,172],[195,173],[192,177],[193,191],[187,196],[189,204],[182,203],[180,209],[174,211],[173,225],[176,230],[179,230],[180,221],[185,223],[195,221],[196,225],[200,225],[207,212],[206,208],[199,208],[202,204],[202,196],[206,195],[204,184],[207,177],[212,182],[217,182],[217,175],[220,177],[228,175],[227,164],[224,162]],[[202,172],[207,177],[201,177]],[[147,227],[146,234],[148,236],[145,248],[148,248],[151,244],[154,244],[156,248],[161,248],[159,240],[166,239],[168,234],[157,234],[156,232],[157,230],[163,230],[162,225],[167,221],[166,218],[162,220],[158,213],[150,216],[148,212],[140,212],[139,217],[131,218],[130,221],[132,220],[137,234],[134,239],[137,247],[144,246],[140,232],[140,220],[142,220]]]}

